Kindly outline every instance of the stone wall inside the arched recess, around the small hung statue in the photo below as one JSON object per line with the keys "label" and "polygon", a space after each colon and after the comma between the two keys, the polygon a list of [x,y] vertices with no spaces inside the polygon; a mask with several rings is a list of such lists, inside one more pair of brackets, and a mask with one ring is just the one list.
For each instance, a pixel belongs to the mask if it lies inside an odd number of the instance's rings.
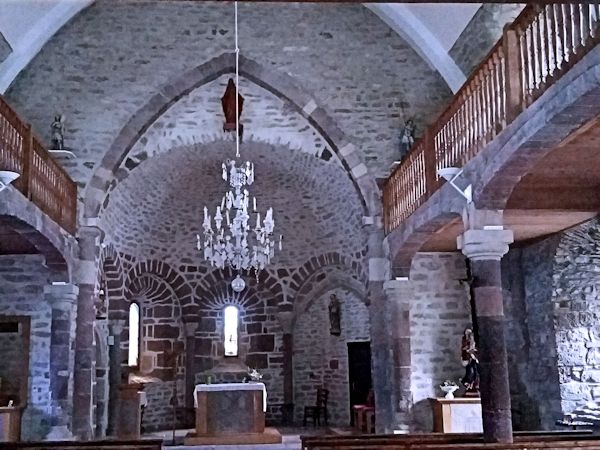
{"label": "stone wall inside the arched recess, around the small hung statue", "polygon": [[[330,334],[329,302],[341,301],[341,334]],[[369,313],[364,299],[341,287],[314,298],[296,317],[294,326],[294,411],[303,419],[304,407],[315,404],[317,388],[329,390],[330,425],[350,423],[348,343],[369,341]]]}

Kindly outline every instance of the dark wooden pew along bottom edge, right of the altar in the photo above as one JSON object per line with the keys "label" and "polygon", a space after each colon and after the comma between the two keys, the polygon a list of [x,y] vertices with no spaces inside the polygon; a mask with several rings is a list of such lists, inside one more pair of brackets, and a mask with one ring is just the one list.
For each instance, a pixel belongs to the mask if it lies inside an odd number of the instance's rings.
{"label": "dark wooden pew along bottom edge, right of the altar", "polygon": [[[515,441],[521,442],[555,442],[560,440],[572,441],[580,439],[596,439],[591,430],[561,430],[516,432]],[[424,445],[438,445],[439,448],[455,448],[461,445],[483,445],[481,433],[419,433],[391,435],[327,435],[301,436],[303,450],[326,449],[420,449]],[[600,440],[598,440],[600,444]],[[424,448],[424,447],[423,447]],[[456,447],[465,448],[465,447]],[[485,447],[483,447],[485,448]],[[521,448],[521,447],[515,447]],[[536,447],[532,447],[536,448]],[[544,447],[540,447],[544,448]]]}

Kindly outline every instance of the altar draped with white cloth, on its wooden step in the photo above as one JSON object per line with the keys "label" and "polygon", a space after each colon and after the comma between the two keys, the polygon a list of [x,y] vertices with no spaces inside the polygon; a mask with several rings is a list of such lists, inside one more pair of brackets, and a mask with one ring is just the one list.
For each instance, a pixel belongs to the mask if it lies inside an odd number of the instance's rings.
{"label": "altar draped with white cloth, on its wooden step", "polygon": [[196,432],[186,445],[276,444],[281,435],[265,428],[263,383],[198,384],[194,389]]}

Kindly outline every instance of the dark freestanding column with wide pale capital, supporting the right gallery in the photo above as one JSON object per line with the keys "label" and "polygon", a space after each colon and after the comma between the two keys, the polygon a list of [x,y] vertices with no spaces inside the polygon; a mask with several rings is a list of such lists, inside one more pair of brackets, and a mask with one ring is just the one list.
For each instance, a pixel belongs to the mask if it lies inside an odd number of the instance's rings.
{"label": "dark freestanding column with wide pale capital, supporting the right gallery", "polygon": [[468,229],[458,237],[458,248],[471,261],[486,442],[513,439],[500,271],[500,260],[512,242],[512,231],[503,229]]}

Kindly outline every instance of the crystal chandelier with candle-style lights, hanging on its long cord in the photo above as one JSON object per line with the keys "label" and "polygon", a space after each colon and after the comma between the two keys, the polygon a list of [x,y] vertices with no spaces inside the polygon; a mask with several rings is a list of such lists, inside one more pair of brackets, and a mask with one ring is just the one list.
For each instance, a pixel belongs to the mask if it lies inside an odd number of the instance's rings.
{"label": "crystal chandelier with candle-style lights, hanging on its long cord", "polygon": [[[237,26],[237,2],[235,2],[235,120],[236,120],[236,158],[240,157],[239,130],[239,48]],[[211,266],[224,269],[230,266],[238,275],[232,282],[236,292],[245,287],[241,278],[242,271],[254,270],[256,277],[264,269],[275,254],[275,240],[272,238],[275,221],[273,208],[269,208],[261,221],[260,212],[256,210],[256,197],[252,197],[248,188],[254,183],[254,164],[246,161],[238,163],[228,159],[222,165],[222,178],[229,183],[230,190],[221,199],[214,216],[204,207],[204,240],[197,235],[197,248],[203,251],[204,259]],[[256,213],[253,220],[251,214]],[[214,223],[214,227],[213,227]],[[252,223],[255,224],[252,228]],[[282,236],[279,236],[281,250]]]}

